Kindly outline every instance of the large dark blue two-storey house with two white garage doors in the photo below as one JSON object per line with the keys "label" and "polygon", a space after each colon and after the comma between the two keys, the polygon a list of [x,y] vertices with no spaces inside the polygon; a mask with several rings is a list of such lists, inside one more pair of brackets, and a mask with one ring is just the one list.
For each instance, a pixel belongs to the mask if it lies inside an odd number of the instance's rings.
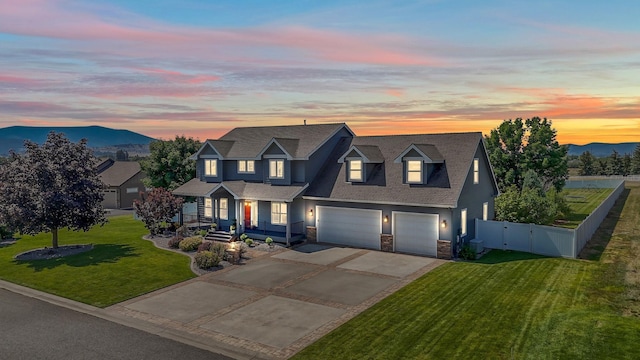
{"label": "large dark blue two-storey house with two white garage doors", "polygon": [[346,124],[247,127],[191,157],[201,218],[222,228],[450,258],[494,216],[481,133],[356,136]]}

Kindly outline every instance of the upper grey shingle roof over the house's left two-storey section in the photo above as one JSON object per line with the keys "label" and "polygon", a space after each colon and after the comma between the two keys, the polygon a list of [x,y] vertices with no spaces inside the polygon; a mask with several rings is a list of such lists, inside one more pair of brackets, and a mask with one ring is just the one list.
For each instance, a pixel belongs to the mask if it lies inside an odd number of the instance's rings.
{"label": "upper grey shingle roof over the house's left two-storey section", "polygon": [[196,159],[206,146],[211,146],[223,159],[258,160],[273,142],[292,159],[306,160],[341,129],[347,129],[353,135],[344,123],[238,127],[218,140],[207,140],[192,159]]}

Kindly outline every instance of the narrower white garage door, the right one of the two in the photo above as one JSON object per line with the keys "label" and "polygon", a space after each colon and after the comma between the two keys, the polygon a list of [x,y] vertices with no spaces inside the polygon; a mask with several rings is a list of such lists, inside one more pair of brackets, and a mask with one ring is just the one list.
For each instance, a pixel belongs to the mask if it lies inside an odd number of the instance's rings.
{"label": "narrower white garage door, the right one of the two", "polygon": [[438,215],[396,212],[393,218],[395,251],[436,256],[438,253]]}

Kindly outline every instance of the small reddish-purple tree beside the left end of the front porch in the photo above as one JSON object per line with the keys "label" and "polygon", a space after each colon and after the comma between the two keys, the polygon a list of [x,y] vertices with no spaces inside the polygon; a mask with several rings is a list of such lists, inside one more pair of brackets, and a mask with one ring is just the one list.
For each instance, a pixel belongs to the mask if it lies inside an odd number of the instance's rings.
{"label": "small reddish-purple tree beside the left end of the front porch", "polygon": [[173,196],[170,191],[154,188],[142,201],[134,200],[133,208],[151,235],[155,235],[161,229],[162,223],[171,222],[171,218],[180,211],[182,202],[182,198]]}

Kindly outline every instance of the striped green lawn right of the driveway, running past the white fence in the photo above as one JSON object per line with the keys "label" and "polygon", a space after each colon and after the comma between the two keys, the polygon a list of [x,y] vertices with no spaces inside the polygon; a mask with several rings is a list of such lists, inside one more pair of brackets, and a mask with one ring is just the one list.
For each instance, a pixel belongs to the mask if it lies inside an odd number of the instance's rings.
{"label": "striped green lawn right of the driveway, running past the white fence", "polygon": [[445,264],[294,359],[639,359],[639,183],[592,243],[597,260],[494,250]]}

